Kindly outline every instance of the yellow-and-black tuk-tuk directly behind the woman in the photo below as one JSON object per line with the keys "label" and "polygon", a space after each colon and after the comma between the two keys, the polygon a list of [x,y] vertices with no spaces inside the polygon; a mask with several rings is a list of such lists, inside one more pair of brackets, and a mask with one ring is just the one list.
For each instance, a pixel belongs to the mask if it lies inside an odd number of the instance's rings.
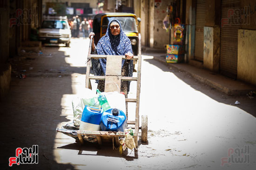
{"label": "yellow-and-black tuk-tuk directly behind the woman", "polygon": [[[95,15],[93,21],[94,44],[97,45],[101,37],[106,34],[108,23],[112,19],[118,19],[121,23],[122,30],[131,40],[134,56],[138,56],[138,28],[136,22],[136,15],[133,13],[99,13]],[[138,18],[138,24],[141,19]]]}

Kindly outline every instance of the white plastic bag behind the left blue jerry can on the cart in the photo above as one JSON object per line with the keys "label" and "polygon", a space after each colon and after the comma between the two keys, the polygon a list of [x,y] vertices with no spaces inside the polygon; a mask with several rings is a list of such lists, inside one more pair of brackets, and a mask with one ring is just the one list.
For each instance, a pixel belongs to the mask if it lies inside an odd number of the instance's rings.
{"label": "white plastic bag behind the left blue jerry can on the cart", "polygon": [[101,108],[96,93],[89,88],[85,88],[85,94],[82,97],[77,97],[72,101],[75,126],[80,126],[85,105]]}

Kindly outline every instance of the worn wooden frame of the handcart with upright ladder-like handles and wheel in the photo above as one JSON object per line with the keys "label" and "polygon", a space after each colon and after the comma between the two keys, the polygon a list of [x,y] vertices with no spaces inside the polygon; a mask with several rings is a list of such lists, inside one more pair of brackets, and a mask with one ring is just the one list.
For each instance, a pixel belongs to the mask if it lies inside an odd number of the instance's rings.
{"label": "worn wooden frame of the handcart with upright ladder-like handles and wheel", "polygon": [[[138,46],[138,56],[134,56],[132,60],[137,60],[138,70],[137,77],[125,77],[121,76],[121,61],[126,59],[125,56],[114,56],[114,55],[92,55],[92,37],[90,39],[90,46],[88,51],[88,60],[87,60],[87,70],[86,70],[86,82],[85,87],[91,88],[90,79],[92,80],[105,80],[105,92],[120,92],[121,80],[122,81],[136,81],[137,82],[137,91],[136,98],[129,99],[126,98],[127,102],[136,102],[136,111],[135,111],[135,121],[127,120],[128,127],[130,125],[135,125],[134,128],[134,139],[136,147],[138,146],[138,135],[139,129],[141,129],[141,141],[147,142],[148,139],[148,117],[147,115],[142,116],[141,127],[139,127],[139,107],[140,107],[140,91],[141,91],[141,34],[139,34],[139,46]],[[91,58],[107,58],[106,65],[106,76],[90,76],[90,64]],[[124,132],[106,132],[106,131],[77,131],[78,138],[81,143],[83,143],[83,136],[95,136],[99,145],[102,144],[102,141],[115,141],[115,144],[119,146],[119,137],[124,137]]]}

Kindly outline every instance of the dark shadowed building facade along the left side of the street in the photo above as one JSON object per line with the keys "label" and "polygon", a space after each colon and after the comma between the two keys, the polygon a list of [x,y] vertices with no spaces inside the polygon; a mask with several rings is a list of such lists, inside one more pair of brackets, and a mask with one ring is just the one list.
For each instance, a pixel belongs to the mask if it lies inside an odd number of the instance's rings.
{"label": "dark shadowed building facade along the left side of the street", "polygon": [[42,19],[42,0],[0,1],[0,100],[11,81],[9,57],[18,54],[21,45],[31,39]]}

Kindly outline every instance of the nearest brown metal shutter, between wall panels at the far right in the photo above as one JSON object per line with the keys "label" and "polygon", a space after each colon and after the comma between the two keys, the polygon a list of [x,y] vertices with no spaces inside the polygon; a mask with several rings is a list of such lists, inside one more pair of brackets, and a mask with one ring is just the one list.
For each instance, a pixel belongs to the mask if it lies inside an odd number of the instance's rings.
{"label": "nearest brown metal shutter, between wall panels at the far right", "polygon": [[[240,9],[240,0],[222,0],[222,19],[228,18],[229,9]],[[228,19],[231,25],[221,26],[220,72],[232,78],[237,76],[237,21],[238,15],[233,15]]]}

